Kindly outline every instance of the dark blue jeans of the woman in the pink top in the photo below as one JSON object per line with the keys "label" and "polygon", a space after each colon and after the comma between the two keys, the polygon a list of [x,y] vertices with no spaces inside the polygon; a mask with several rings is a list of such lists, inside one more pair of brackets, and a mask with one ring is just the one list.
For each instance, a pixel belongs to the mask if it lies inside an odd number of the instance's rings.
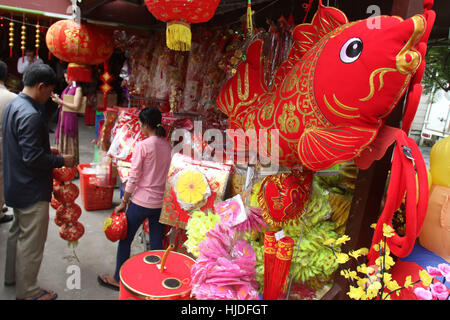
{"label": "dark blue jeans of the woman in the pink top", "polygon": [[119,272],[123,263],[130,258],[131,243],[136,235],[139,226],[142,225],[145,219],[148,219],[148,228],[150,233],[150,250],[162,250],[162,238],[164,226],[159,223],[159,216],[161,215],[161,208],[149,209],[138,206],[130,201],[130,206],[127,210],[127,237],[125,240],[119,241],[116,258],[116,271],[114,279],[119,281]]}

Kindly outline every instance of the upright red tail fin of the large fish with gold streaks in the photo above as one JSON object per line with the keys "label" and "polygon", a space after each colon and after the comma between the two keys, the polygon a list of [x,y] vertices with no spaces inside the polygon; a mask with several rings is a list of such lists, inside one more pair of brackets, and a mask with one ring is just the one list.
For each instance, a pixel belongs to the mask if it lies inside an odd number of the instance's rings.
{"label": "upright red tail fin of the large fish with gold streaks", "polygon": [[258,96],[267,92],[261,59],[263,41],[254,40],[247,49],[246,59],[237,68],[217,97],[217,107],[233,119],[234,115],[248,108]]}

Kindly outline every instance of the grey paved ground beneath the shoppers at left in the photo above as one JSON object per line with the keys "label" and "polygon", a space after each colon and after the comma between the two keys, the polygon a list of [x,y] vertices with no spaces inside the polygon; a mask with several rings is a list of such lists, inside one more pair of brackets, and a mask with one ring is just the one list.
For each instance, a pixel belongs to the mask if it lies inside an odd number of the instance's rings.
{"label": "grey paved ground beneath the shoppers at left", "polygon": [[[80,162],[90,163],[94,158],[94,147],[90,142],[95,138],[95,127],[85,126],[83,119],[79,118],[79,129]],[[53,141],[53,137],[51,137],[51,141]],[[79,186],[78,179],[74,183]],[[117,205],[119,201],[119,190],[116,189],[113,204]],[[73,251],[68,248],[67,242],[60,238],[58,226],[53,222],[55,210],[50,207],[50,223],[44,259],[38,278],[39,285],[42,288],[56,291],[60,300],[118,299],[118,292],[101,287],[97,283],[98,273],[112,273],[115,268],[117,242],[110,242],[103,233],[103,222],[111,214],[112,209],[86,211],[81,203],[81,195],[76,203],[83,209],[79,221],[85,227],[85,234],[79,240],[76,248],[76,254],[80,262],[74,258]],[[3,285],[6,240],[10,225],[11,223],[0,225],[0,300],[16,298],[14,287]],[[136,236],[132,254],[140,253],[143,250],[144,246],[140,242],[140,237]],[[80,274],[79,289],[73,288],[76,282],[72,281],[77,270]]]}

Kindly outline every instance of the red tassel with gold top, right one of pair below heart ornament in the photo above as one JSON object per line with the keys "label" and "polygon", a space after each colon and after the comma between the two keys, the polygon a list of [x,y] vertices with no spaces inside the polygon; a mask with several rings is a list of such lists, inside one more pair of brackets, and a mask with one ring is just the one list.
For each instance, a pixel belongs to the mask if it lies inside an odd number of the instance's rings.
{"label": "red tassel with gold top, right one of pair below heart ornament", "polygon": [[284,237],[277,243],[277,253],[272,268],[270,286],[264,289],[264,299],[277,300],[286,288],[286,280],[291,267],[294,240]]}

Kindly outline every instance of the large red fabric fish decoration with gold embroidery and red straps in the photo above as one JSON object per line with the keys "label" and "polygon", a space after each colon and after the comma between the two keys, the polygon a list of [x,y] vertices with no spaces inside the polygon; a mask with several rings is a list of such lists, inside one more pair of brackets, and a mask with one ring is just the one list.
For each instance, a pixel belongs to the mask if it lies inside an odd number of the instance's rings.
{"label": "large red fabric fish decoration with gold embroidery and red straps", "polygon": [[[391,172],[398,178],[395,183],[391,179],[396,190],[391,190],[391,198],[388,193],[378,225],[392,224],[393,211],[406,191],[413,216],[407,221],[409,234],[396,235],[389,243],[398,256],[412,249],[411,239],[420,231],[428,199],[423,157],[406,132],[422,92],[426,42],[435,18],[432,4],[425,0],[424,14],[405,20],[376,17],[374,28],[374,20],[369,20],[373,18],[349,22],[342,11],[320,1],[312,22],[294,28],[289,56],[271,88],[264,81],[263,42],[257,39],[216,101],[228,115],[230,129],[277,129],[279,164],[288,167],[302,164],[318,171],[354,160],[366,169],[397,141],[395,152],[400,154],[394,155]],[[408,88],[403,130],[384,125]],[[415,180],[411,183],[412,158],[418,171],[418,200]],[[382,236],[380,230],[374,241]]]}

